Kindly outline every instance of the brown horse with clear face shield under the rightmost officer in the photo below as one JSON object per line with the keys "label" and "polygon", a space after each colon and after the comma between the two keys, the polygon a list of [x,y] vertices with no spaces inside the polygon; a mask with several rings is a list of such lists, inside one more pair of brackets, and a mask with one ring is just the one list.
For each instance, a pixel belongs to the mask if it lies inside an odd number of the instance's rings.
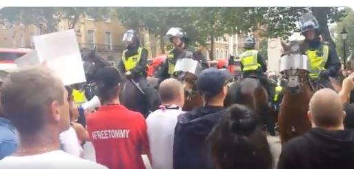
{"label": "brown horse with clear face shield under the rightmost officer", "polygon": [[[286,86],[279,109],[278,125],[280,141],[283,145],[286,141],[303,135],[311,129],[311,122],[307,116],[308,103],[314,92],[321,86],[313,85],[315,83],[310,80],[308,57],[299,52],[299,42],[291,43],[294,48],[287,46],[286,43],[282,45],[286,53],[282,56],[279,67],[286,80]],[[340,82],[333,78],[330,78],[330,81],[333,88],[339,92]]]}

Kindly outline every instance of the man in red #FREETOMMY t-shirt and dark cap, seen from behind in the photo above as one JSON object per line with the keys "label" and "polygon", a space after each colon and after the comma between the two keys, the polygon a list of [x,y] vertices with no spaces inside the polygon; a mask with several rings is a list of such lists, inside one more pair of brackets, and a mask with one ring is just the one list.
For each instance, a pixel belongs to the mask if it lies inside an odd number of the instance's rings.
{"label": "man in red #FREETOMMY t-shirt and dark cap, seen from behind", "polygon": [[150,157],[150,150],[143,115],[120,104],[121,78],[116,68],[101,68],[97,77],[102,106],[87,119],[97,163],[110,169],[145,168],[141,155]]}

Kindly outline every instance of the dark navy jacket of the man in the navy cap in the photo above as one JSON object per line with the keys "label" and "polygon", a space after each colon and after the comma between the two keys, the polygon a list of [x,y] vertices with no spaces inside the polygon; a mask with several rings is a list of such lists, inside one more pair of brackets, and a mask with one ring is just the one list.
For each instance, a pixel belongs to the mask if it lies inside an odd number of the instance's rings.
{"label": "dark navy jacket of the man in the navy cap", "polygon": [[223,112],[222,107],[205,106],[179,115],[173,143],[174,169],[216,168],[206,138]]}

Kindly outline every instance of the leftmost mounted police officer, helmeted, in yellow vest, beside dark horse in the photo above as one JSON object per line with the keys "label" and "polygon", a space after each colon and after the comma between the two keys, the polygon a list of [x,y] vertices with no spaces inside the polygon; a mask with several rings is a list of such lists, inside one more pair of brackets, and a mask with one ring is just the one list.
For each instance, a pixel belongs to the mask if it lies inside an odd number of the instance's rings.
{"label": "leftmost mounted police officer, helmeted, in yellow vest, beside dark horse", "polygon": [[123,37],[126,50],[118,63],[119,71],[128,79],[132,78],[141,88],[148,86],[146,81],[148,70],[148,49],[140,46],[139,38],[134,30],[128,30]]}

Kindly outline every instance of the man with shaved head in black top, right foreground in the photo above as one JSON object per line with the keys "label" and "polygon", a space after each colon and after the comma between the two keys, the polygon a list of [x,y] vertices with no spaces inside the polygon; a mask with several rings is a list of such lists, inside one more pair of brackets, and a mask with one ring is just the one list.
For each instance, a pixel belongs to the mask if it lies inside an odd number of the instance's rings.
{"label": "man with shaved head in black top, right foreground", "polygon": [[354,132],[344,130],[345,115],[340,95],[315,92],[308,111],[313,128],[284,145],[278,168],[354,168]]}

